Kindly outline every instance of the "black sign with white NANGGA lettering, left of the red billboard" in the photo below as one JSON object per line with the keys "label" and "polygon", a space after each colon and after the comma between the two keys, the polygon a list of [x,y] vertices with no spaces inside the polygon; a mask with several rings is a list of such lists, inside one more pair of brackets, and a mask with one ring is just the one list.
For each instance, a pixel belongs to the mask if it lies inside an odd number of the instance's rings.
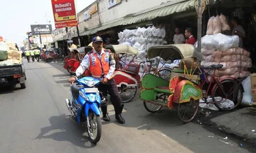
{"label": "black sign with white NANGGA lettering, left of the red billboard", "polygon": [[33,35],[50,35],[52,34],[52,25],[51,24],[35,24],[30,25],[31,32]]}

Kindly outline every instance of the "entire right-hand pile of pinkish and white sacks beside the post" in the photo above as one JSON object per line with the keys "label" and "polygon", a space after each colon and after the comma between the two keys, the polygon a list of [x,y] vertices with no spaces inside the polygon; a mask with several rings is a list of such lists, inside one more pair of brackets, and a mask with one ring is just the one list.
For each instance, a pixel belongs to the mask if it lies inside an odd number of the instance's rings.
{"label": "entire right-hand pile of pinkish and white sacks beside the post", "polygon": [[[229,30],[230,27],[223,14],[212,16],[208,20],[207,35],[202,37],[203,61],[201,66],[210,75],[215,73],[216,77],[221,79],[225,77],[245,78],[250,74],[247,70],[251,67],[250,53],[238,47],[238,36],[221,34],[221,32]],[[211,67],[212,64],[222,64],[223,67],[215,71]]]}

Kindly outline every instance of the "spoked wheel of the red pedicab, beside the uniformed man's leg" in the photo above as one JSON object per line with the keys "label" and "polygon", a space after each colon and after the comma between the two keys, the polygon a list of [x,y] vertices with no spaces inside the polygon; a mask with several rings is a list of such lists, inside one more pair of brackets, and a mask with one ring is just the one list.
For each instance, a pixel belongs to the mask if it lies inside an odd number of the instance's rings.
{"label": "spoked wheel of the red pedicab, beside the uniformed man's leg", "polygon": [[[122,103],[129,103],[136,96],[137,87],[119,87],[119,95],[122,99]],[[129,94],[130,93],[130,94]]]}

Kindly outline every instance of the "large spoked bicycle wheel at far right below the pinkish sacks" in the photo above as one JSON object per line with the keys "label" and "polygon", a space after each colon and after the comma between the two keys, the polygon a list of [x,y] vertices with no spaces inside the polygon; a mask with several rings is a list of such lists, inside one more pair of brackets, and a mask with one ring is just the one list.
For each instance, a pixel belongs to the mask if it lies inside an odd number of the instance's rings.
{"label": "large spoked bicycle wheel at far right below the pinkish sacks", "polygon": [[[243,86],[242,83],[237,80],[223,80],[221,83],[213,89],[214,94],[212,94],[212,102],[221,111],[230,111],[236,109],[242,102],[243,99]],[[234,105],[226,103],[228,108],[223,108],[222,104],[226,100],[233,101]]]}

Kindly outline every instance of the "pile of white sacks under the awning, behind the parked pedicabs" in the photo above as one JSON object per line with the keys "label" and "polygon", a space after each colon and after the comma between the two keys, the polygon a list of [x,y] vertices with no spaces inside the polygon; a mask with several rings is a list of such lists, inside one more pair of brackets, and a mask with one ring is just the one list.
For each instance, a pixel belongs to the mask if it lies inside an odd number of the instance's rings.
{"label": "pile of white sacks under the awning, behind the parked pedicabs", "polygon": [[[123,32],[118,33],[118,42],[119,44],[127,44],[133,46],[134,48],[139,50],[139,55],[134,59],[140,59],[140,61],[146,61],[147,59],[147,49],[156,46],[167,44],[165,41],[165,29],[155,28],[154,25],[152,27],[146,28],[138,28],[134,30],[125,29]],[[126,60],[126,64],[128,64],[132,60],[132,56],[123,56],[121,58],[122,61]],[[159,58],[159,57],[158,57]],[[155,58],[157,59],[157,58]],[[121,63],[122,65],[124,63]],[[138,63],[139,64],[139,63]],[[146,66],[141,64],[140,74],[143,74]]]}

